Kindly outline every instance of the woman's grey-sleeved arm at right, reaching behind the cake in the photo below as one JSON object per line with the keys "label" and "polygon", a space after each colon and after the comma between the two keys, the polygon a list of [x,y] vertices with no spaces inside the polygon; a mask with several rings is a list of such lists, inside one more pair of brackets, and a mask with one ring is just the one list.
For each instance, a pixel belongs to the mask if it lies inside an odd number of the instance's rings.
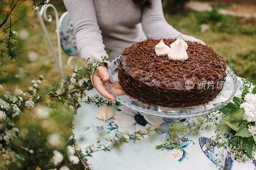
{"label": "woman's grey-sleeved arm at right, reaching behind the cake", "polygon": [[201,41],[195,37],[180,33],[166,22],[161,0],[151,0],[150,2],[152,3],[151,6],[143,7],[141,19],[143,31],[148,38],[175,39],[181,36],[183,40]]}

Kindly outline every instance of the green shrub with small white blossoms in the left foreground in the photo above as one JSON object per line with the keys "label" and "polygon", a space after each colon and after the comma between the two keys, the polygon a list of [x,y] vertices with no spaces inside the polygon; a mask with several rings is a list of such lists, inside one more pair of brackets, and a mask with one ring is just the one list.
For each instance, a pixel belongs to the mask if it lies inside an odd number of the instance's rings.
{"label": "green shrub with small white blossoms in the left foreground", "polygon": [[[83,60],[87,67],[75,71],[74,77],[68,76],[66,81],[60,79],[58,83],[48,85],[47,89],[41,89],[40,84],[44,77],[39,76],[37,80],[31,81],[32,86],[27,92],[16,89],[14,92],[3,91],[0,94],[0,169],[9,167],[20,169],[30,166],[33,169],[55,167],[69,169],[80,166],[75,146],[63,147],[64,137],[58,131],[49,134],[43,129],[50,128],[48,124],[51,122],[47,120],[50,116],[60,115],[63,118],[61,114],[66,112],[76,113],[77,108],[80,107],[79,102],[93,102],[98,106],[119,105],[118,102],[104,100],[99,95],[88,96],[87,100],[81,100],[86,96],[85,91],[93,88],[89,79],[92,69],[97,71],[97,66],[103,65],[107,58],[102,57],[100,62],[95,62],[95,66],[92,66],[92,63],[89,64],[88,60]],[[31,121],[36,118],[41,123],[21,123],[22,126],[19,123],[20,127],[16,127],[15,123],[22,122],[25,117],[25,120]],[[33,127],[29,127],[28,131],[27,126]],[[40,146],[37,144],[38,139],[45,143]],[[112,145],[108,143],[106,146],[109,148]],[[90,153],[88,152],[88,155]],[[42,154],[46,156],[42,158]]]}

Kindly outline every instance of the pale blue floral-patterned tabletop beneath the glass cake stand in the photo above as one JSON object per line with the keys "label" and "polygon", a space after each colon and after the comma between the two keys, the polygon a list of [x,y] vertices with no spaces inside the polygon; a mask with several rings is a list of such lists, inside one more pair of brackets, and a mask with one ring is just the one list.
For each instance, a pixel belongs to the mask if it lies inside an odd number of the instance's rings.
{"label": "pale blue floral-patterned tabletop beneath the glass cake stand", "polygon": [[[239,78],[241,84],[241,78]],[[87,92],[87,96],[98,94],[94,89]],[[236,96],[239,96],[238,91]],[[196,135],[182,138],[179,149],[164,147],[157,150],[156,146],[170,138],[168,129],[160,129],[148,124],[140,113],[129,110],[124,106],[113,107],[115,115],[104,122],[95,117],[103,107],[95,104],[81,103],[73,120],[74,142],[80,148],[78,151],[84,166],[91,169],[222,169],[223,163],[228,169],[255,169],[254,158],[250,162],[242,163],[231,156],[225,156],[225,149],[218,148],[217,143],[206,147],[210,137],[214,136],[214,126],[207,130],[200,130]],[[192,118],[195,119],[195,118]],[[191,120],[192,120],[191,119]],[[190,121],[191,121],[190,120]],[[163,123],[165,120],[162,120]],[[88,146],[96,146],[99,137],[106,143],[109,137],[118,140],[120,134],[136,135],[140,130],[150,127],[154,129],[150,136],[141,140],[124,143],[121,147],[114,147],[110,151],[93,152],[91,156],[84,156]],[[132,137],[130,137],[132,139]],[[105,145],[107,145],[106,143]],[[209,149],[208,149],[209,148]],[[95,148],[96,149],[96,148]],[[222,153],[221,156],[218,153]],[[224,153],[224,154],[223,154]],[[218,155],[217,155],[218,154]],[[224,156],[223,156],[224,155]],[[220,161],[221,160],[221,161]],[[225,169],[225,168],[224,168]]]}

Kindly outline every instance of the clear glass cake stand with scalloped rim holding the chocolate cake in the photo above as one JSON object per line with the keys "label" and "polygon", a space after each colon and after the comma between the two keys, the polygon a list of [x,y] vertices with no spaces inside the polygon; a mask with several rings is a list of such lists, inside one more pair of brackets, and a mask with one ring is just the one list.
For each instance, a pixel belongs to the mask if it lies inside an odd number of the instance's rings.
{"label": "clear glass cake stand with scalloped rim holding the chocolate cake", "polygon": [[173,108],[173,107],[162,107],[162,106],[151,106],[140,101],[131,99],[127,95],[117,96],[110,88],[110,83],[118,82],[118,60],[119,55],[110,63],[110,69],[108,73],[110,75],[110,81],[106,83],[108,91],[115,97],[115,99],[122,105],[132,109],[135,112],[140,113],[144,116],[145,120],[153,126],[170,128],[170,124],[173,122],[187,122],[190,117],[207,115],[215,112],[220,108],[226,106],[235,96],[238,88],[237,78],[234,71],[226,65],[226,82],[223,85],[223,89],[220,94],[211,102],[206,105],[192,106],[186,108]]}

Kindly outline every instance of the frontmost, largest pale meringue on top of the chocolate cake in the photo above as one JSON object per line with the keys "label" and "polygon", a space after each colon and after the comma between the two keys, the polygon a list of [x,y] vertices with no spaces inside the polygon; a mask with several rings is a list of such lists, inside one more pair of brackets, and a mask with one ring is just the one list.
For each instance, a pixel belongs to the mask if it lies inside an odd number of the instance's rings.
{"label": "frontmost, largest pale meringue on top of the chocolate cake", "polygon": [[186,52],[186,49],[182,45],[182,42],[179,42],[178,45],[172,47],[168,53],[168,58],[171,60],[187,60],[188,59],[188,53]]}

